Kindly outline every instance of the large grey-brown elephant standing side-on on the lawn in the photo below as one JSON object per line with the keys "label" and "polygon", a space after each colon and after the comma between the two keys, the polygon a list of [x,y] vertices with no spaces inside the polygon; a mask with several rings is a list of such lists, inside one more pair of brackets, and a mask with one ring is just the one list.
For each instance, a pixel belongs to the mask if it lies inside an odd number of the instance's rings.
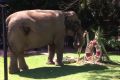
{"label": "large grey-brown elephant standing side-on on the lawn", "polygon": [[[23,10],[6,18],[8,46],[11,51],[9,73],[27,70],[24,51],[48,45],[48,64],[63,66],[64,38],[79,34],[82,41],[83,29],[74,11]],[[80,42],[80,41],[79,41]],[[53,58],[57,54],[54,62]]]}

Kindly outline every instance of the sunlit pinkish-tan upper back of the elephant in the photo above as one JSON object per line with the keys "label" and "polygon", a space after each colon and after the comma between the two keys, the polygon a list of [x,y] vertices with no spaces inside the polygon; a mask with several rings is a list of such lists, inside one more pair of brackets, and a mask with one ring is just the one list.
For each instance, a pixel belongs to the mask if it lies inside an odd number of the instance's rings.
{"label": "sunlit pinkish-tan upper back of the elephant", "polygon": [[[64,15],[62,11],[57,10],[24,10],[18,11],[6,19],[7,27],[11,29],[13,25],[59,25],[64,23]],[[33,25],[34,24],[34,25]]]}

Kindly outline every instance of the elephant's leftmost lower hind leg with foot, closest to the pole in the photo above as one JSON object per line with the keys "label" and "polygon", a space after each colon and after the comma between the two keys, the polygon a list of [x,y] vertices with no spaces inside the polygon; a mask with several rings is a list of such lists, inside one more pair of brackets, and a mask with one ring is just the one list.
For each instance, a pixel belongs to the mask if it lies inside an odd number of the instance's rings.
{"label": "elephant's leftmost lower hind leg with foot, closest to the pole", "polygon": [[9,73],[10,74],[15,74],[17,72],[20,72],[20,70],[18,69],[17,56],[11,52]]}

